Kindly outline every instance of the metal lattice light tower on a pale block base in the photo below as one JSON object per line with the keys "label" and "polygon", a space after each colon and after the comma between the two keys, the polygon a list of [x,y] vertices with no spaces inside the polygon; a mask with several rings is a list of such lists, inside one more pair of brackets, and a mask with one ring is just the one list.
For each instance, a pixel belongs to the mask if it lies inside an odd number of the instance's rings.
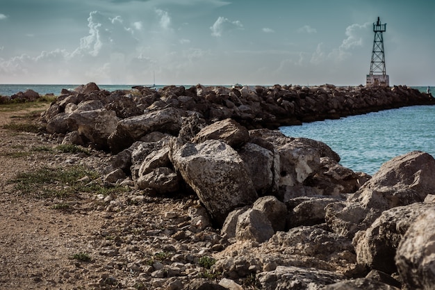
{"label": "metal lattice light tower on a pale block base", "polygon": [[384,33],[386,23],[381,24],[377,17],[377,22],[373,23],[373,40],[372,61],[370,62],[370,73],[367,75],[366,86],[390,86],[390,77],[386,74],[385,54],[384,54]]}

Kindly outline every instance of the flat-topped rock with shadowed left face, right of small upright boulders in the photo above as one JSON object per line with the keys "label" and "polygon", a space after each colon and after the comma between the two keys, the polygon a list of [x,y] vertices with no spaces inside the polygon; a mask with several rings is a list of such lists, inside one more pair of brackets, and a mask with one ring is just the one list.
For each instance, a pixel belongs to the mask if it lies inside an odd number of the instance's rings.
{"label": "flat-topped rock with shadowed left face, right of small upright boulders", "polygon": [[286,202],[288,211],[287,227],[299,225],[318,225],[325,223],[325,207],[333,202],[340,201],[340,197],[299,197]]}

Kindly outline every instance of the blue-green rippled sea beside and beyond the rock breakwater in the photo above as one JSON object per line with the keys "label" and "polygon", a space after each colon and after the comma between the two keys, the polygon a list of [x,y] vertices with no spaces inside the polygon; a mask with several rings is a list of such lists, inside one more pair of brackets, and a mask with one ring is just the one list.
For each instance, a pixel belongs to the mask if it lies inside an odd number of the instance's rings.
{"label": "blue-green rippled sea beside and beyond the rock breakwater", "polygon": [[[0,95],[27,89],[40,95],[60,95],[79,85],[1,85]],[[129,90],[133,85],[98,85],[109,91]],[[190,85],[184,85],[189,88]],[[163,85],[156,88],[163,88]],[[427,87],[413,87],[426,92]],[[435,91],[435,88],[432,92]],[[340,155],[340,164],[356,172],[375,174],[395,156],[419,150],[435,156],[435,106],[409,106],[355,115],[338,120],[280,127],[286,136],[322,141]]]}

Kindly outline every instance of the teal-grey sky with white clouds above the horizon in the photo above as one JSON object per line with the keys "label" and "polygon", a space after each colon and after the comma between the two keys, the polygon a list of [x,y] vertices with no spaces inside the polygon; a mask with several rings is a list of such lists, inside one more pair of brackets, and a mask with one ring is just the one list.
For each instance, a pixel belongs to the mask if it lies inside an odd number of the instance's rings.
{"label": "teal-grey sky with white clouds above the horizon", "polygon": [[435,1],[1,0],[0,83],[435,86]]}

